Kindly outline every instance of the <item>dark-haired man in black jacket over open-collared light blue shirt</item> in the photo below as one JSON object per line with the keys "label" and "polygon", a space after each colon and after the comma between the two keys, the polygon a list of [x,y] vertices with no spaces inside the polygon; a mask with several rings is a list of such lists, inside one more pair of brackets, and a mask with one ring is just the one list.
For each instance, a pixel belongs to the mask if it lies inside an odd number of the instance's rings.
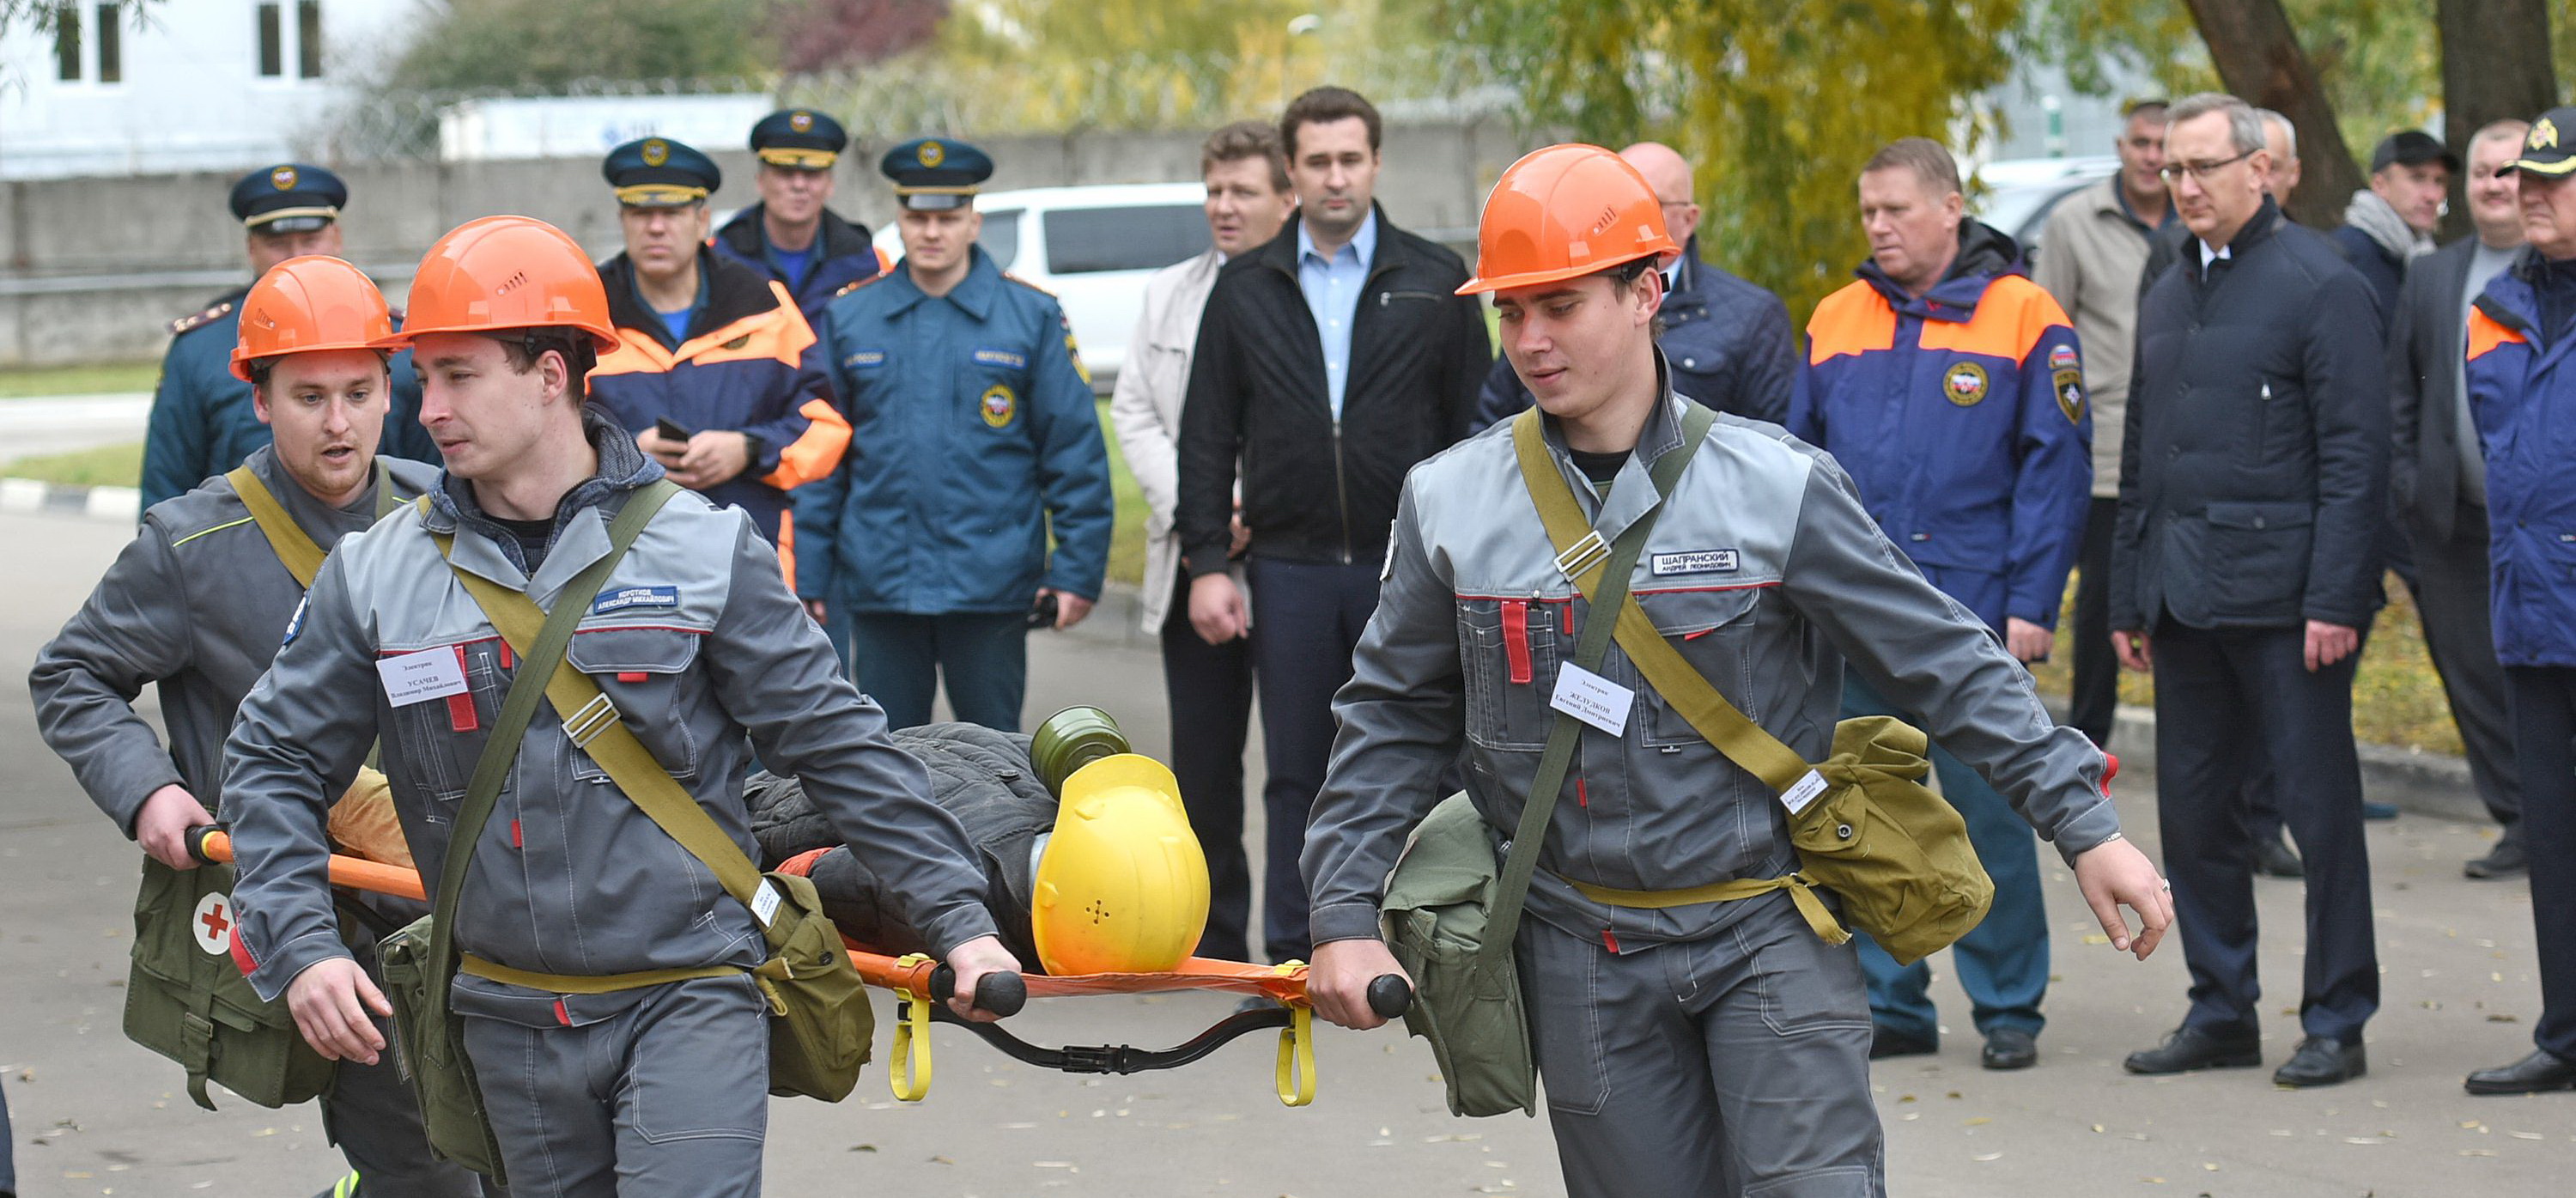
{"label": "dark-haired man in black jacket over open-collared light blue shirt", "polygon": [[[1298,850],[1332,752],[1332,693],[1378,605],[1404,471],[1466,435],[1494,361],[1466,263],[1396,229],[1370,193],[1378,111],[1345,88],[1280,119],[1298,216],[1226,263],[1208,294],[1180,415],[1182,567],[1208,644],[1252,636],[1270,781],[1262,935],[1306,958]],[[1226,577],[1236,464],[1249,585]]]}

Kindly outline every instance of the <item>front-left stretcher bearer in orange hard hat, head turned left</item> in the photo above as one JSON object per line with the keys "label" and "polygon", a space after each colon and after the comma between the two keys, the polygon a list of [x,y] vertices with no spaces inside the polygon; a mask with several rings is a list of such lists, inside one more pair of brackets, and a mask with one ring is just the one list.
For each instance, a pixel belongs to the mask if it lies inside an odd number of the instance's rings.
{"label": "front-left stretcher bearer in orange hard hat, head turned left", "polygon": [[[737,902],[639,806],[670,791],[629,781],[659,768],[750,855],[757,750],[804,781],[971,994],[1018,964],[966,832],[842,680],[755,515],[675,490],[585,402],[592,356],[618,340],[572,237],[526,216],[448,232],[389,343],[412,345],[446,471],[322,567],[242,703],[224,786],[250,982],[286,994],[325,1056],[381,1059],[368,1013],[389,1005],[332,935],[319,860],[322,796],[381,739],[430,899],[453,909],[448,1010],[510,1190],[757,1195],[770,1028],[750,969],[778,891]],[[513,649],[492,613],[531,603],[567,611],[572,634]],[[520,675],[567,683],[520,657],[549,644],[598,688],[572,727],[549,703],[531,719],[533,693],[505,706]]]}

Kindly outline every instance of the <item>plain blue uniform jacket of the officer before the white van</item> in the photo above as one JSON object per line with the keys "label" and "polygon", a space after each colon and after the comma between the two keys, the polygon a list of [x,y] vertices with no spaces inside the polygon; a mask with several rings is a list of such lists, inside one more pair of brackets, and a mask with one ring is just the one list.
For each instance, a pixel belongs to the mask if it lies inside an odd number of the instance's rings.
{"label": "plain blue uniform jacket of the officer before the white van", "polygon": [[[796,593],[853,613],[1100,595],[1110,459],[1074,330],[976,247],[927,296],[899,263],[824,314],[850,456],[796,492]],[[1054,531],[1054,556],[1046,551]]]}

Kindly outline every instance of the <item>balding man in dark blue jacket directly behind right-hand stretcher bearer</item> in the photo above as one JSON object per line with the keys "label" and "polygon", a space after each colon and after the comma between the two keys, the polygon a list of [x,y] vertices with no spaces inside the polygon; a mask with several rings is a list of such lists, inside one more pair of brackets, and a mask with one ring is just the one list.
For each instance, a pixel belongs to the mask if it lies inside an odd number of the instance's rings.
{"label": "balding man in dark blue jacket directly behind right-hand stretcher bearer", "polygon": [[[1700,204],[1692,201],[1690,162],[1662,142],[1620,149],[1628,165],[1646,175],[1654,198],[1664,204],[1664,227],[1682,242],[1682,258],[1664,268],[1664,307],[1656,312],[1664,332],[1656,340],[1672,389],[1718,412],[1752,420],[1788,420],[1795,335],[1780,296],[1726,271],[1700,263]],[[1476,399],[1476,428],[1530,407],[1530,389],[1512,363],[1494,358]]]}

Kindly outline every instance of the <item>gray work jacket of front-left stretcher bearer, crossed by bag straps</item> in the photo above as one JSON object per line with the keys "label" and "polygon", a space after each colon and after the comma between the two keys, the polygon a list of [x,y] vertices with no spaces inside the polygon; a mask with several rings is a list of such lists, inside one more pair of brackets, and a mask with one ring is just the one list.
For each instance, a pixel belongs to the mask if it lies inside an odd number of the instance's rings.
{"label": "gray work jacket of front-left stretcher bearer, crossed by bag straps", "polygon": [[[404,508],[325,562],[276,665],[242,701],[224,747],[224,794],[242,866],[237,943],[263,997],[345,953],[322,884],[322,824],[376,737],[402,830],[435,891],[448,824],[518,662],[433,533],[456,536],[456,567],[551,605],[608,554],[608,520],[626,497],[662,477],[598,410],[587,425],[600,474],[559,505],[533,577],[515,538],[474,508],[471,484],[440,477],[428,513]],[[412,652],[456,654],[466,690],[392,706],[376,662]],[[876,703],[842,678],[750,515],[672,497],[608,575],[567,657],[752,860],[760,848],[742,781],[757,747],[762,765],[804,781],[940,956],[994,930],[966,832],[930,801],[922,765],[894,747]],[[608,781],[551,703],[536,706],[518,745],[456,912],[461,951],[541,974],[755,966],[768,956],[752,915]],[[551,1028],[608,1018],[639,994],[572,994],[559,1007],[554,994],[459,976],[456,1010]]]}

